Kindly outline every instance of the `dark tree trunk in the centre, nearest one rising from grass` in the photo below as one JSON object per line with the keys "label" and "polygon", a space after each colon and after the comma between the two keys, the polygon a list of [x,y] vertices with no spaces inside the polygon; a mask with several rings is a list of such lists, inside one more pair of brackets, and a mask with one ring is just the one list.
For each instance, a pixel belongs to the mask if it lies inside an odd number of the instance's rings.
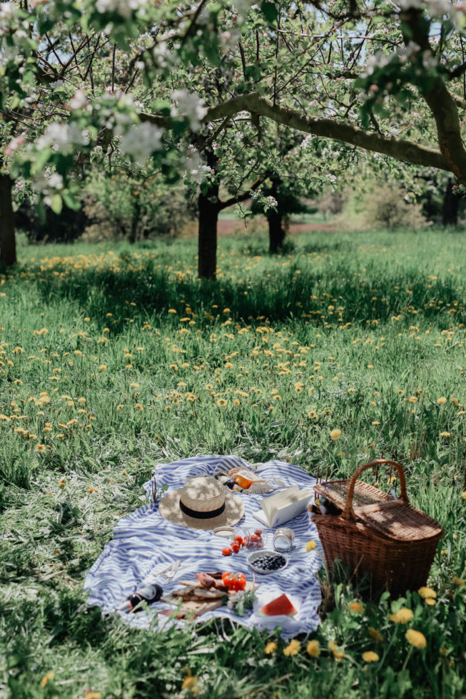
{"label": "dark tree trunk in the centre, nearest one rising from grass", "polygon": [[199,240],[198,274],[201,279],[215,279],[217,270],[217,222],[220,206],[218,185],[211,185],[198,198]]}

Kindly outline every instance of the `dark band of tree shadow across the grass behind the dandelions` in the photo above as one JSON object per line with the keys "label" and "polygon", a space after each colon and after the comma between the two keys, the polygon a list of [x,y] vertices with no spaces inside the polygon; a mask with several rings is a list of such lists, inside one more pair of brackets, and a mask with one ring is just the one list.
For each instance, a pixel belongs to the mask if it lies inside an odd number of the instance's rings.
{"label": "dark band of tree shadow across the grass behind the dandelions", "polygon": [[[244,280],[198,280],[183,272],[168,272],[156,261],[137,261],[121,255],[118,269],[74,269],[64,266],[41,270],[39,293],[46,303],[77,302],[83,315],[119,332],[126,321],[143,322],[169,309],[196,314],[196,327],[209,325],[224,308],[238,322],[300,320],[313,325],[344,325],[384,322],[393,315],[406,315],[412,323],[420,317],[440,328],[466,321],[457,280],[427,282],[415,267],[380,269],[367,265],[364,277],[350,265],[328,265],[322,270],[300,269],[299,259],[282,270]],[[21,270],[19,270],[20,272]],[[58,273],[57,273],[58,272]]]}

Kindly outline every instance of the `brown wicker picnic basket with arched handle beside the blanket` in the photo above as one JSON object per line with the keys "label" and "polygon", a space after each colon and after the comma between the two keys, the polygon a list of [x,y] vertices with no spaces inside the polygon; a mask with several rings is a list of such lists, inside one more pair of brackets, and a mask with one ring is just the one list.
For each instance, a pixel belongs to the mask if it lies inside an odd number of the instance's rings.
{"label": "brown wicker picnic basket with arched handle beside the blanket", "polygon": [[[398,472],[398,499],[358,480],[363,471],[381,464]],[[340,558],[355,578],[368,573],[373,594],[384,589],[402,594],[425,585],[442,527],[410,504],[400,464],[388,459],[370,461],[348,480],[318,483],[315,494],[340,510],[340,514],[313,514],[312,518],[328,568]]]}

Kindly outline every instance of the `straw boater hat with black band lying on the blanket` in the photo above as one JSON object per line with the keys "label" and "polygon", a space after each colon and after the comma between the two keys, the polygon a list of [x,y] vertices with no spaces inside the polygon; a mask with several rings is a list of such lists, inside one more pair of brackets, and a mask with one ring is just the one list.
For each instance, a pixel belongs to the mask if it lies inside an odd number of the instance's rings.
{"label": "straw boater hat with black band lying on the blanket", "polygon": [[161,516],[192,529],[215,529],[236,524],[244,504],[213,476],[193,476],[183,488],[167,493],[158,505]]}

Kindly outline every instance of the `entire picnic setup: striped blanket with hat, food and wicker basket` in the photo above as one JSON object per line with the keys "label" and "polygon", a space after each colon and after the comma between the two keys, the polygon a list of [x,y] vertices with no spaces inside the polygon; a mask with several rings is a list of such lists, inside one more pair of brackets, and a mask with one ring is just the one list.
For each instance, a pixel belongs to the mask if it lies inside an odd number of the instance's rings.
{"label": "entire picnic setup: striped blanket with hat, food and wicker basket", "polygon": [[[399,497],[358,480],[380,466],[395,468]],[[397,594],[426,583],[442,536],[387,459],[323,482],[287,461],[251,469],[199,455],[161,464],[143,488],[151,504],[118,522],[84,583],[89,604],[138,628],[228,618],[280,626],[284,638],[310,633],[324,553],[330,570],[339,558],[377,593]]]}

